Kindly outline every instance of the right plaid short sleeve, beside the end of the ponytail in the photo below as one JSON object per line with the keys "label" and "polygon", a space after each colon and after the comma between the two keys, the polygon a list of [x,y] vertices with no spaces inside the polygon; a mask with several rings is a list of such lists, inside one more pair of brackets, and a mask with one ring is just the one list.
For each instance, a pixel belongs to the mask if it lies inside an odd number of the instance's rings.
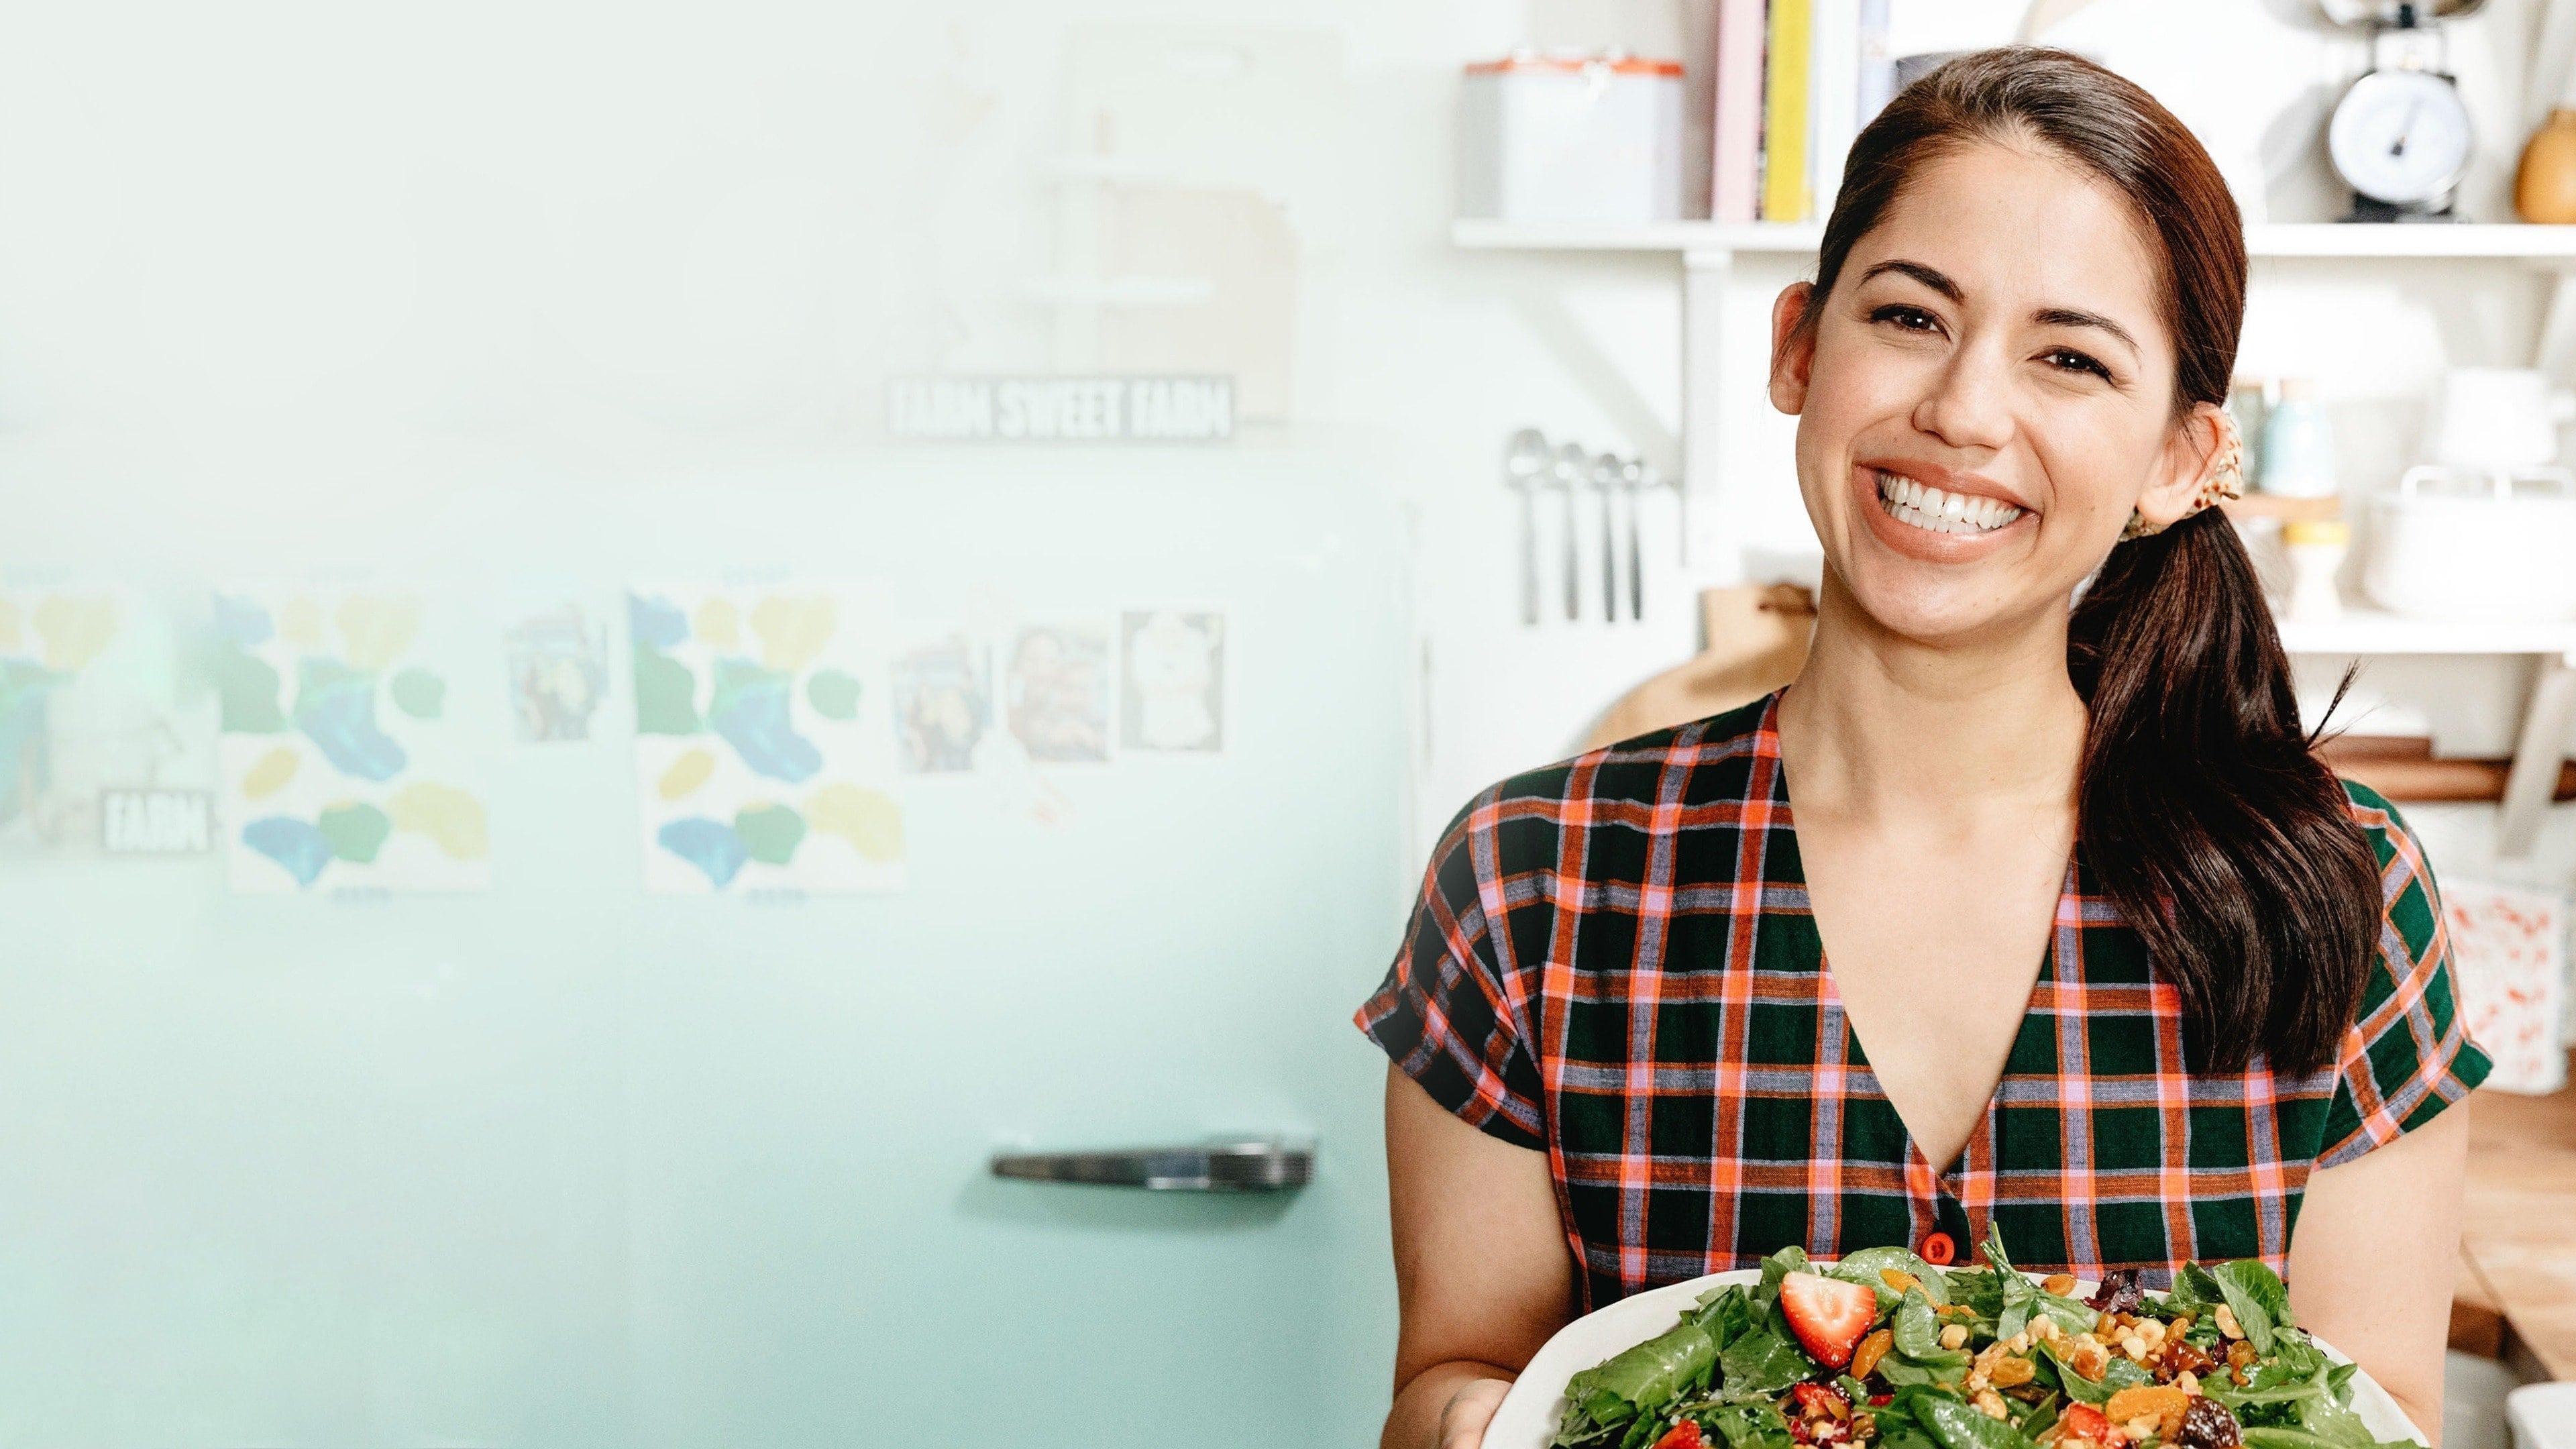
{"label": "right plaid short sleeve, beside the end of the ponytail", "polygon": [[2380,859],[2380,949],[2360,1018],[2344,1034],[2318,1168],[2424,1127],[2486,1080],[2491,1065],[2468,1039],[2424,846],[2378,792],[2349,781],[2344,789]]}

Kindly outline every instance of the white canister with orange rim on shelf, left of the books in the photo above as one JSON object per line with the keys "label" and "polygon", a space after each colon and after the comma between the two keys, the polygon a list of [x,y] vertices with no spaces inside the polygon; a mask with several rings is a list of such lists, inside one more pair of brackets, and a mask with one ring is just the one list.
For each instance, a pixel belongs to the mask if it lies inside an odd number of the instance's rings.
{"label": "white canister with orange rim on shelf, left of the books", "polygon": [[1682,62],[1517,52],[1466,67],[1458,214],[1677,222]]}

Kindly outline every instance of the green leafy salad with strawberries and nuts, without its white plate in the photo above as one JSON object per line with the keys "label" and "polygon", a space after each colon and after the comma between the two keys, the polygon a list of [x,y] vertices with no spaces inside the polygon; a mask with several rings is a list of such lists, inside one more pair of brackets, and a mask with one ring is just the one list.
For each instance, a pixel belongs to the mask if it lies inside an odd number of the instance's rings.
{"label": "green leafy salad with strawberries and nuts, without its white plate", "polygon": [[[1656,1338],[1574,1374],[1561,1449],[2378,1449],[2259,1261],[2092,1297],[1904,1248],[1762,1261]],[[2401,1441],[2403,1444],[2403,1441]]]}

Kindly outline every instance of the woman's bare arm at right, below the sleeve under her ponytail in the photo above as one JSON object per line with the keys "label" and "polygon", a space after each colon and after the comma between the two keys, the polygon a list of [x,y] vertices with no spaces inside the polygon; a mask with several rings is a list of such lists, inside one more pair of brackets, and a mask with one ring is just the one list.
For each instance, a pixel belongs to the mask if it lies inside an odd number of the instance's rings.
{"label": "woman's bare arm at right, below the sleeve under her ponytail", "polygon": [[2442,1348],[2460,1274],[2468,1104],[2308,1178],[2290,1235],[2290,1307],[2442,1446]]}

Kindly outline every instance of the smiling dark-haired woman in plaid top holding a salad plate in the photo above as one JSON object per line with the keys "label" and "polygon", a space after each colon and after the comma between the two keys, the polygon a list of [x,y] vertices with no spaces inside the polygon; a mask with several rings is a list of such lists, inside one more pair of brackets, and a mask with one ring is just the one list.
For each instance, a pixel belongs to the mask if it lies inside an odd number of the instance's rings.
{"label": "smiling dark-haired woman in plaid top holding a salad plate", "polygon": [[1391,1446],[1476,1444],[1579,1310],[1994,1227],[2087,1279],[2287,1269],[2439,1423],[2486,1057],[2414,835],[2313,758],[2208,508],[2244,284],[2208,152],[2079,57],[1953,59],[1860,134],[1772,307],[1803,673],[1468,802],[1360,1011]]}

